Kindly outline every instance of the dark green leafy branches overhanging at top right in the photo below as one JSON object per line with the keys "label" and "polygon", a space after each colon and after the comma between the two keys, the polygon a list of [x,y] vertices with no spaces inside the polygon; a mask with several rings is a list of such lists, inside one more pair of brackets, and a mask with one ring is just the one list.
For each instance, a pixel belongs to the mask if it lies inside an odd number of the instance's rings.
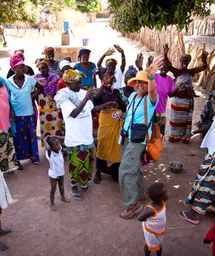
{"label": "dark green leafy branches overhanging at top right", "polygon": [[161,30],[176,24],[179,30],[188,28],[193,16],[202,19],[210,14],[213,0],[109,0],[113,27],[125,33],[138,31],[142,26]]}

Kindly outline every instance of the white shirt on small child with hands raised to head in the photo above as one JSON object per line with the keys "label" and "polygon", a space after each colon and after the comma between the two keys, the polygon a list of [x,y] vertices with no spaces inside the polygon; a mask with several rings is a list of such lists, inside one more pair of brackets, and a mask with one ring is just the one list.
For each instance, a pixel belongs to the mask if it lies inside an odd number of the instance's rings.
{"label": "white shirt on small child with hands raised to head", "polygon": [[50,157],[47,151],[45,151],[45,156],[50,163],[50,168],[48,169],[48,176],[56,179],[56,177],[64,175],[64,157],[62,154],[62,147],[59,150],[59,153],[51,151]]}

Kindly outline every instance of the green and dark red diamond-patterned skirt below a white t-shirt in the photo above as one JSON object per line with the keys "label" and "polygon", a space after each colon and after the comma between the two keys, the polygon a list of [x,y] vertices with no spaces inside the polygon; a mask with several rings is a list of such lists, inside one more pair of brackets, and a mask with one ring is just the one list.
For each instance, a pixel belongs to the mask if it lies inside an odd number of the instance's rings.
{"label": "green and dark red diamond-patterned skirt below a white t-shirt", "polygon": [[66,147],[69,161],[71,186],[87,188],[93,174],[94,144]]}

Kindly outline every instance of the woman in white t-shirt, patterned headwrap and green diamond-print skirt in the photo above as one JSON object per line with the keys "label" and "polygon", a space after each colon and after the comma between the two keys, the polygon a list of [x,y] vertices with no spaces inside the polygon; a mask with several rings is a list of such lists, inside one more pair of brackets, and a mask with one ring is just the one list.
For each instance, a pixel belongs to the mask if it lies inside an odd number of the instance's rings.
{"label": "woman in white t-shirt, patterned headwrap and green diamond-print skirt", "polygon": [[82,191],[89,191],[88,182],[93,173],[93,123],[92,113],[103,108],[115,108],[116,102],[107,102],[96,107],[90,100],[94,90],[81,90],[82,77],[85,74],[76,70],[64,72],[67,88],[58,91],[55,96],[57,106],[62,109],[65,122],[64,145],[67,148],[71,194],[75,200],[82,200]]}

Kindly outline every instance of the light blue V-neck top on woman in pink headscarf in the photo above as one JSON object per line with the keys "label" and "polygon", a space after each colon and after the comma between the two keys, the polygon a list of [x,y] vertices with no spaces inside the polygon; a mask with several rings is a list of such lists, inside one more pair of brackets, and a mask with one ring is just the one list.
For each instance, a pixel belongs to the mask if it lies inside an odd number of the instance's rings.
{"label": "light blue V-neck top on woman in pink headscarf", "polygon": [[33,115],[33,105],[30,93],[33,86],[36,85],[36,79],[32,76],[24,75],[24,84],[20,89],[13,81],[13,76],[7,79],[7,86],[10,90],[15,114],[16,116],[31,116]]}

